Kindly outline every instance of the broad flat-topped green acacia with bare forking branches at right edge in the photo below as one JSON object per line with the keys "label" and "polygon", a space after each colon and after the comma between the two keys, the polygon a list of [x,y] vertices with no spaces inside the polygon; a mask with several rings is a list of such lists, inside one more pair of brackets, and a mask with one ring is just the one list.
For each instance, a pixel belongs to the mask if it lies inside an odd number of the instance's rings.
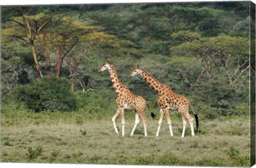
{"label": "broad flat-topped green acacia with bare forking branches at right edge", "polygon": [[205,74],[212,78],[215,74],[213,71],[216,71],[219,79],[225,73],[232,85],[250,68],[249,39],[243,37],[203,37],[173,46],[171,52],[174,55],[194,57],[203,63],[197,81]]}

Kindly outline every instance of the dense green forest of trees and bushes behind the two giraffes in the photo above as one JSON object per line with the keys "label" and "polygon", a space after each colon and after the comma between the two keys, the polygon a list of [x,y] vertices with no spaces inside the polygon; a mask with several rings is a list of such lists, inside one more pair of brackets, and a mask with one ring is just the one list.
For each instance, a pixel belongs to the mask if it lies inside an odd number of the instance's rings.
{"label": "dense green forest of trees and bushes behind the two giraffes", "polygon": [[116,94],[109,74],[98,69],[109,60],[121,81],[153,108],[155,92],[141,77],[128,78],[137,64],[188,97],[202,117],[249,115],[249,71],[255,74],[250,2],[1,10],[3,105],[107,114],[116,108]]}

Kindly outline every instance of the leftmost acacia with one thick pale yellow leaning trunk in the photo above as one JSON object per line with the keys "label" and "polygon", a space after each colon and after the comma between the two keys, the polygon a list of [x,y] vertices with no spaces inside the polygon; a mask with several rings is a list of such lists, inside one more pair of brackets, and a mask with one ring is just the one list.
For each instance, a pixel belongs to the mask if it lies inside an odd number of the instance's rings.
{"label": "leftmost acacia with one thick pale yellow leaning trunk", "polygon": [[2,35],[21,39],[30,46],[37,75],[41,78],[43,74],[38,63],[35,41],[38,34],[46,27],[47,23],[50,22],[52,15],[46,15],[44,13],[28,15],[28,12],[25,12],[22,7],[19,7],[17,12],[20,17],[12,17],[11,19],[3,20],[5,28],[2,29]]}

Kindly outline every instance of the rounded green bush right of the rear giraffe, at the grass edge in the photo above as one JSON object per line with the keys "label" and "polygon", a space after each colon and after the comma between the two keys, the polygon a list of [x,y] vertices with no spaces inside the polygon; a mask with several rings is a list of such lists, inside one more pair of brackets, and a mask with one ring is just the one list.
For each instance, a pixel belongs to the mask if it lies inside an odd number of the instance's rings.
{"label": "rounded green bush right of the rear giraffe, at the grass edge", "polygon": [[[190,101],[196,111],[209,119],[219,115],[248,115],[248,102],[241,104],[246,95],[229,86],[225,81],[204,81],[190,87]],[[193,107],[194,107],[193,106]]]}

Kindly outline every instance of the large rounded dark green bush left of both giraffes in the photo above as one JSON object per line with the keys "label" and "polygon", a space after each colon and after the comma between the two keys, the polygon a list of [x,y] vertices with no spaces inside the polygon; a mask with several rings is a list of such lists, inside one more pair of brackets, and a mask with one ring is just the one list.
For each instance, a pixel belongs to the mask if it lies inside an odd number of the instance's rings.
{"label": "large rounded dark green bush left of both giraffes", "polygon": [[45,110],[71,111],[78,108],[76,95],[66,78],[43,77],[17,88],[19,101],[36,112]]}

